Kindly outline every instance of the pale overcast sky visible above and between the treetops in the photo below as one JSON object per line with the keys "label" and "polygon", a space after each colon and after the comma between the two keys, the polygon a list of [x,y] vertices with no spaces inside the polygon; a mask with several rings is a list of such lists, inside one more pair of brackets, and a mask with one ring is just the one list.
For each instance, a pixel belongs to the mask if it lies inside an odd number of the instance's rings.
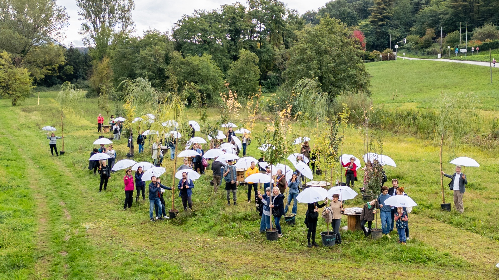
{"label": "pale overcast sky visible above and between the treetops", "polygon": [[[58,5],[66,7],[70,16],[69,26],[65,32],[64,44],[73,43],[80,47],[83,45],[81,35],[78,34],[80,21],[78,20],[78,7],[74,0],[56,0]],[[281,0],[288,8],[296,9],[300,14],[307,10],[317,9],[329,0]],[[234,3],[236,0],[135,0],[133,20],[137,34],[142,35],[149,27],[160,31],[171,31],[173,24],[184,14],[191,14],[194,9],[218,9],[222,4]],[[246,5],[245,0],[241,0]]]}

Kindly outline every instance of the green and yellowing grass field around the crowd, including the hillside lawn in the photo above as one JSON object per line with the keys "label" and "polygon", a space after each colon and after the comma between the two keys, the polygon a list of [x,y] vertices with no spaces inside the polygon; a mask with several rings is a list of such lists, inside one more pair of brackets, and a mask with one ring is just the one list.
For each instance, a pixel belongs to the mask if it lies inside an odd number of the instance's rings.
{"label": "green and yellowing grass field around the crowd, including the hillside lawn", "polygon": [[[483,109],[495,110],[497,106],[495,87],[487,85],[487,77],[476,78],[482,75],[481,67],[407,60],[389,63],[367,65],[376,103],[426,107],[445,90],[479,94]],[[392,99],[395,89],[399,90]],[[87,170],[92,142],[100,135],[95,123],[97,99],[85,100],[81,117],[67,116],[66,154],[50,156],[48,140],[40,128],[60,127],[55,96],[53,92],[41,93],[40,105],[36,105],[36,98],[30,98],[16,107],[0,100],[0,279],[419,280],[499,276],[495,267],[499,262],[497,149],[463,146],[452,151],[444,147],[444,162],[466,155],[481,163],[480,168],[465,170],[470,183],[464,198],[465,213],[459,215],[455,210],[440,210],[436,143],[374,132],[384,141],[384,154],[397,163],[396,168],[386,168],[389,180],[398,178],[419,204],[410,214],[410,242],[402,246],[395,234],[392,239],[374,241],[347,231],[342,233],[341,245],[309,249],[303,224],[306,205],[299,204],[295,226],[282,221],[282,238],[266,241],[258,233],[254,204],[246,203],[246,189],[238,190],[239,205],[227,206],[225,191],[213,193],[210,187],[211,171],[196,181],[196,211],[192,215],[181,211],[176,220],[150,222],[148,201],[134,201],[131,209],[123,211],[123,172],[113,174],[108,190],[99,193],[98,177]],[[188,111],[190,119],[197,120],[196,114]],[[214,122],[217,109],[210,109],[209,116]],[[261,119],[255,131],[263,129],[265,116]],[[316,127],[295,127],[312,139],[318,132]],[[60,150],[60,140],[57,145]],[[359,132],[347,129],[343,151],[361,157],[362,147]],[[116,141],[115,150],[117,160],[123,159],[126,140]],[[149,144],[145,150],[144,154],[136,153],[134,160],[151,161]],[[256,144],[250,145],[248,154],[259,157]],[[171,185],[173,163],[166,161],[162,183]],[[447,173],[453,172],[453,167],[444,164]],[[444,187],[448,183],[445,179]],[[447,188],[445,194],[446,202],[451,202]],[[179,203],[177,199],[177,208],[181,208]],[[363,204],[361,197],[345,203],[347,207]],[[318,233],[326,230],[322,219],[317,227]]]}

